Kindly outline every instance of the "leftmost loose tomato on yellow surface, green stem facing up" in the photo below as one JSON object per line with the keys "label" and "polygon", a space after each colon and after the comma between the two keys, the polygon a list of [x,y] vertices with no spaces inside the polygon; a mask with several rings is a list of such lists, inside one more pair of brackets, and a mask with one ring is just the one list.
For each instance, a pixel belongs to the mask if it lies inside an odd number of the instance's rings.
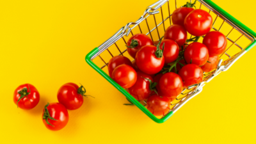
{"label": "leftmost loose tomato on yellow surface, green stem facing up", "polygon": [[22,84],[15,89],[13,102],[21,109],[32,109],[38,104],[40,95],[32,84]]}

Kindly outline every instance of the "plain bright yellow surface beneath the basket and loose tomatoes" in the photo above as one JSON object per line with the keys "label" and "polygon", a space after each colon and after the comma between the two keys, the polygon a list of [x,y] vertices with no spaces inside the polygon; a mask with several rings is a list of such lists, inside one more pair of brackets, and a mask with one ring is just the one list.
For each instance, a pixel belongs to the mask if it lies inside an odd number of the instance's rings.
{"label": "plain bright yellow surface beneath the basket and loose tomatoes", "polygon": [[[135,106],[123,106],[122,93],[84,61],[155,1],[1,1],[1,142],[256,143],[256,48],[164,124]],[[213,1],[256,31],[255,1]],[[80,109],[68,111],[67,127],[49,131],[42,110],[58,101],[58,88],[68,82],[82,83],[96,99],[85,98]],[[17,109],[12,100],[13,90],[24,83],[35,85],[41,97],[29,111]]]}

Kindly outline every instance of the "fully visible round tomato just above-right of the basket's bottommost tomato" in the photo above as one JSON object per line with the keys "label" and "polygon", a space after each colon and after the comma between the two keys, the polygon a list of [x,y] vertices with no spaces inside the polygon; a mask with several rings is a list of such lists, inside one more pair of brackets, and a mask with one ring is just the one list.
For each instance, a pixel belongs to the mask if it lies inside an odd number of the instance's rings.
{"label": "fully visible round tomato just above-right of the basket's bottommost tomato", "polygon": [[164,95],[176,98],[183,90],[183,81],[178,74],[167,72],[161,77],[159,87]]}

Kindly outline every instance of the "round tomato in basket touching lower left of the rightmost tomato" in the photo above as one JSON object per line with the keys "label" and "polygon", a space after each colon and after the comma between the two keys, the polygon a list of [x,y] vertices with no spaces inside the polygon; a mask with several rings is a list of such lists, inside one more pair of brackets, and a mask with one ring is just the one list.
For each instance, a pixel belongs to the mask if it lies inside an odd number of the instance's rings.
{"label": "round tomato in basket touching lower left of the rightmost tomato", "polygon": [[207,62],[209,58],[209,52],[204,44],[193,42],[186,48],[184,52],[184,58],[187,63],[194,63],[198,66],[201,66]]}

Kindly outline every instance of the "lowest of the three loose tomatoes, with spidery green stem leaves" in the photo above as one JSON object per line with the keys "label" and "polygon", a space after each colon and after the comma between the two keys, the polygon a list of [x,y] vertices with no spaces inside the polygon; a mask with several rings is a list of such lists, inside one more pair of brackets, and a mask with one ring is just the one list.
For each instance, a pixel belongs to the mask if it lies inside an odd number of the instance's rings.
{"label": "lowest of the three loose tomatoes, with spidery green stem leaves", "polygon": [[52,131],[59,131],[68,124],[68,111],[62,104],[54,102],[44,107],[42,120],[45,127]]}

